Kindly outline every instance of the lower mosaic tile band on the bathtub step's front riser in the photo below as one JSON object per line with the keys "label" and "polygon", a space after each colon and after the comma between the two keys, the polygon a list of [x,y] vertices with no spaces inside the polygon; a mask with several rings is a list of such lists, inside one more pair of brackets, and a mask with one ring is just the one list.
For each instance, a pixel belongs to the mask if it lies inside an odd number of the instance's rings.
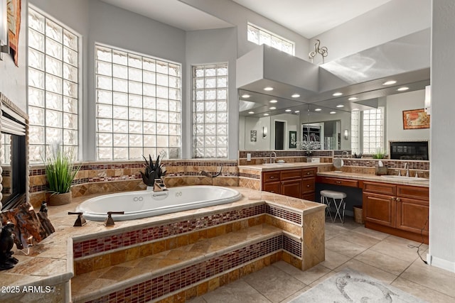
{"label": "lower mosaic tile band on the bathtub step's front riser", "polygon": [[234,250],[230,253],[215,256],[201,263],[187,266],[181,270],[169,272],[165,275],[153,277],[131,287],[111,292],[97,299],[90,300],[90,303],[100,302],[149,302],[165,294],[181,290],[200,281],[215,277],[222,272],[232,270],[257,258],[282,249],[282,236],[274,236],[264,241]]}

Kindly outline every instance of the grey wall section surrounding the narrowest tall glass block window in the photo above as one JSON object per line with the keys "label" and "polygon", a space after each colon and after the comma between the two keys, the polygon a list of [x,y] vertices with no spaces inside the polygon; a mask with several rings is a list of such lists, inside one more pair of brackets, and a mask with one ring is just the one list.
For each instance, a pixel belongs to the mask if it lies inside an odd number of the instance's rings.
{"label": "grey wall section surrounding the narrowest tall glass block window", "polygon": [[191,67],[193,65],[207,65],[213,63],[228,62],[228,158],[237,159],[239,131],[239,101],[237,89],[235,88],[235,60],[237,31],[235,28],[220,28],[206,31],[191,31],[186,33],[186,101],[182,108],[183,132],[182,139],[186,141],[186,150],[183,158],[191,158]]}

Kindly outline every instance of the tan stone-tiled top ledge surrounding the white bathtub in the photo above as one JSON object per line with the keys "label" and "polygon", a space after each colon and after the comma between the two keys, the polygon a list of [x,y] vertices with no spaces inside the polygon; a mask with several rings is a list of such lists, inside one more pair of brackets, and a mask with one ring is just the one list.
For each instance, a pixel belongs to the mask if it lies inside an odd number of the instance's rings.
{"label": "tan stone-tiled top ledge surrounding the white bathtub", "polygon": [[[221,209],[262,202],[284,206],[288,209],[305,213],[317,211],[321,207],[321,204],[308,200],[286,197],[270,192],[260,192],[243,187],[232,188],[237,189],[243,196],[236,202],[144,219],[117,221],[114,226],[109,227],[104,226],[103,222],[88,220],[85,226],[74,227],[73,224],[77,216],[68,216],[68,211],[75,211],[78,204],[100,194],[73,198],[73,202],[66,205],[48,206],[48,216],[55,227],[55,233],[26,250],[17,250],[16,246],[14,246],[14,256],[18,258],[19,262],[14,268],[1,271],[0,280],[4,281],[3,286],[5,287],[21,287],[21,289],[25,285],[57,285],[70,280],[74,275],[73,239],[81,241],[84,238],[93,238],[92,235],[94,233],[97,236],[109,235],[118,233],[119,229],[128,231],[137,229],[141,225],[157,224],[160,221],[178,221],[183,217],[200,216],[200,214],[210,214]],[[14,295],[16,294],[0,293],[0,301],[14,297]]]}

